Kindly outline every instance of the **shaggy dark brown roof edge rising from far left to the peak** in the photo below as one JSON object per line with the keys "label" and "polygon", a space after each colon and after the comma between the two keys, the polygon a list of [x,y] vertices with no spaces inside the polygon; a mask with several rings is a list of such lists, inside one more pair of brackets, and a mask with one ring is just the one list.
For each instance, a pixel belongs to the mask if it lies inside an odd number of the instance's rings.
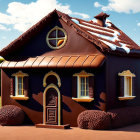
{"label": "shaggy dark brown roof edge rising from far left to the peak", "polygon": [[48,24],[51,22],[53,18],[56,17],[69,17],[68,15],[61,13],[57,10],[52,11],[47,16],[45,16],[43,19],[41,19],[38,23],[33,25],[30,29],[28,29],[26,32],[24,32],[21,36],[19,36],[17,39],[15,39],[13,42],[11,42],[8,46],[3,48],[0,51],[0,56],[5,57],[11,52],[14,52],[17,49],[20,49],[21,47],[24,47],[28,41],[35,35],[39,34],[41,30],[43,30]]}

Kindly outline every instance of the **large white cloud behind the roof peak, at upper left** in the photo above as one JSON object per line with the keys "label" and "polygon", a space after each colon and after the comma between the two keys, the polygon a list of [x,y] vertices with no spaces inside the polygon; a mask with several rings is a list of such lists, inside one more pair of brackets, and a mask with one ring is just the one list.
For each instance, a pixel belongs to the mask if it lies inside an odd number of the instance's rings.
{"label": "large white cloud behind the roof peak, at upper left", "polygon": [[78,15],[82,18],[89,18],[88,15],[83,13],[73,13],[69,5],[63,5],[57,0],[37,0],[29,4],[9,3],[7,13],[0,13],[0,23],[13,25],[14,29],[24,32],[54,9],[67,14]]}

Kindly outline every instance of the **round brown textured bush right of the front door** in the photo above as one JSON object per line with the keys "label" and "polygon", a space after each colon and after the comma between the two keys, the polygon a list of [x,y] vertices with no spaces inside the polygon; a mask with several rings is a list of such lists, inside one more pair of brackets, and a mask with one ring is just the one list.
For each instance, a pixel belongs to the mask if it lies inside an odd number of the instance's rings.
{"label": "round brown textured bush right of the front door", "polygon": [[79,114],[77,119],[78,127],[83,129],[110,129],[110,115],[104,111],[86,110]]}

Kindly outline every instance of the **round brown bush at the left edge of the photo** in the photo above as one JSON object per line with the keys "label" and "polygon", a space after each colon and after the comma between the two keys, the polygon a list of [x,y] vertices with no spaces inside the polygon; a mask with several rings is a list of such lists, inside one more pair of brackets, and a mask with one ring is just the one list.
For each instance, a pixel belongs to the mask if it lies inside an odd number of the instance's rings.
{"label": "round brown bush at the left edge of the photo", "polygon": [[6,105],[0,109],[1,125],[21,125],[24,121],[24,112],[15,105]]}

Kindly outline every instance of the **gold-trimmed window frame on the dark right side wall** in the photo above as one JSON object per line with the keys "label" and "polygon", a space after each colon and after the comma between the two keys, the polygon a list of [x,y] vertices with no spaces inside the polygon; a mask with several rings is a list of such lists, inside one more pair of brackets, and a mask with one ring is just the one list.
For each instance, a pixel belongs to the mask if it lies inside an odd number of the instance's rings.
{"label": "gold-trimmed window frame on the dark right side wall", "polygon": [[[133,80],[132,78],[136,77],[134,73],[131,73],[130,70],[123,71],[122,73],[119,73],[118,76],[124,77],[124,96],[123,97],[118,97],[119,100],[130,100],[134,99],[136,96],[133,96]],[[129,78],[129,81],[128,81]],[[128,89],[128,84],[129,84],[129,89]],[[128,93],[129,92],[129,93]]]}

